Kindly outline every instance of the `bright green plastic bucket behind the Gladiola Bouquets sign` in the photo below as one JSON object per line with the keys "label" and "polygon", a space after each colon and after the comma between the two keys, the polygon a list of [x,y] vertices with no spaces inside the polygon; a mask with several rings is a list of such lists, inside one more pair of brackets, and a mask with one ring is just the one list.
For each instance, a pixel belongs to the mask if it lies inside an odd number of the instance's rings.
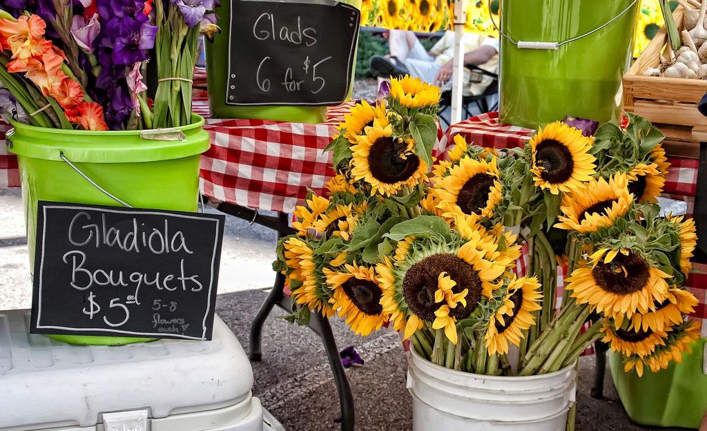
{"label": "bright green plastic bucket behind the Gladiola Bouquets sign", "polygon": [[[61,154],[95,183],[132,207],[196,211],[199,155],[209,149],[204,119],[180,127],[186,139],[142,138],[140,131],[89,132],[13,123],[8,149],[17,155],[30,269],[35,255],[37,201],[119,206],[62,160]],[[66,343],[120,345],[145,338],[50,335]]]}

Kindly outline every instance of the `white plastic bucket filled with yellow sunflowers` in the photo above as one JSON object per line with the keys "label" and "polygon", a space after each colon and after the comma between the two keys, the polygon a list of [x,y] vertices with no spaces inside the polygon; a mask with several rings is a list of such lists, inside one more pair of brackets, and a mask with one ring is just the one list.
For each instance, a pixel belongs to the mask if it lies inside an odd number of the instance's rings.
{"label": "white plastic bucket filled with yellow sunflowers", "polygon": [[662,134],[633,115],[626,130],[568,118],[525,149],[457,136],[436,161],[438,98],[392,79],[341,123],[328,197],[311,194],[279,243],[290,320],[338,315],[410,340],[415,430],[572,428],[595,340],[638,374],[680,360],[699,338],[684,289],[696,237],[655,203]]}

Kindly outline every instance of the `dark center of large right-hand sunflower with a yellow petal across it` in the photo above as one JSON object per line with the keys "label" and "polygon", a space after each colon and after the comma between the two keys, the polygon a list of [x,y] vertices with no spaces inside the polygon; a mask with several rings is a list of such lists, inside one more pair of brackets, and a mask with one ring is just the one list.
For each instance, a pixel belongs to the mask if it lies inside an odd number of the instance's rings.
{"label": "dark center of large right-hand sunflower with a yellow petal across it", "polygon": [[627,295],[638,292],[648,283],[648,263],[632,251],[619,253],[611,263],[600,263],[592,269],[592,277],[606,292]]}

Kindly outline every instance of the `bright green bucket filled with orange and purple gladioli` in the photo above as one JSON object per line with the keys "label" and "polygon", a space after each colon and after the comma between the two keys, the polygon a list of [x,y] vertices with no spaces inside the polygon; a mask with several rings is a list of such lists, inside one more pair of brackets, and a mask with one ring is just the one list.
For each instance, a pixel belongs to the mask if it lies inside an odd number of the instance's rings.
{"label": "bright green bucket filled with orange and purple gladioli", "polygon": [[13,126],[7,142],[18,156],[30,266],[38,200],[197,209],[199,155],[209,134],[191,106],[205,9],[193,3],[0,6],[0,110]]}

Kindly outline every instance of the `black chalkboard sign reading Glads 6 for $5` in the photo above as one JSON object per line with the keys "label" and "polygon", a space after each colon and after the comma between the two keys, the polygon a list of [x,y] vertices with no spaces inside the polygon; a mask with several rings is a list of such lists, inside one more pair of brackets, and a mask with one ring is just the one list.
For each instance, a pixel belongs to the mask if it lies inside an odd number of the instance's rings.
{"label": "black chalkboard sign reading Glads 6 for $5", "polygon": [[327,1],[231,2],[227,105],[338,105],[361,12]]}

